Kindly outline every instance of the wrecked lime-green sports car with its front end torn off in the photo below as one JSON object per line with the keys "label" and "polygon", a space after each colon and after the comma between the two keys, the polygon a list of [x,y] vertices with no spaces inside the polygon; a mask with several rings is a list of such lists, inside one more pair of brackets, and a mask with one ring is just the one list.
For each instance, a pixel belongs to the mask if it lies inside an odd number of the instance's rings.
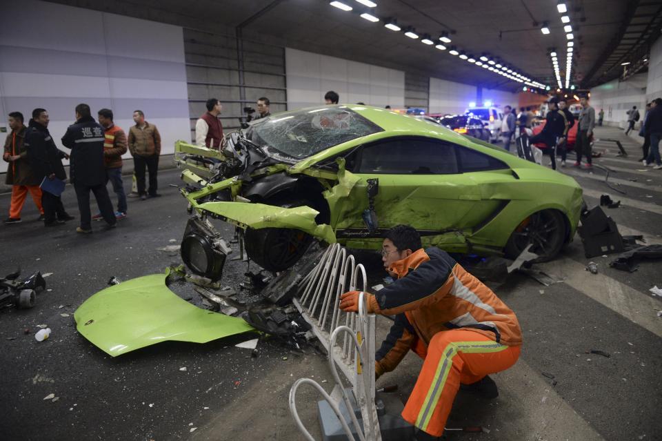
{"label": "wrecked lime-green sports car with its front end torn off", "polygon": [[201,275],[218,274],[214,255],[227,251],[208,217],[237,226],[248,257],[281,271],[313,239],[380,249],[397,224],[449,252],[514,258],[532,244],[551,259],[583,203],[571,177],[370,106],[279,113],[228,135],[221,152],[178,141],[176,158],[192,214],[181,253]]}

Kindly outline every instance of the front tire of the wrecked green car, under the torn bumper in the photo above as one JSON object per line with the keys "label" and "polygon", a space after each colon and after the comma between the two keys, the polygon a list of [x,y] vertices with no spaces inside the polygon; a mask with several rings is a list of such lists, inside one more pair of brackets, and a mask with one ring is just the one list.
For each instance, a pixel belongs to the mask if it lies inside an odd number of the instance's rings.
{"label": "front tire of the wrecked green car, under the torn bumper", "polygon": [[[308,205],[308,201],[271,202],[284,208]],[[284,271],[296,264],[308,251],[312,236],[294,228],[247,228],[244,246],[250,259],[268,271]]]}

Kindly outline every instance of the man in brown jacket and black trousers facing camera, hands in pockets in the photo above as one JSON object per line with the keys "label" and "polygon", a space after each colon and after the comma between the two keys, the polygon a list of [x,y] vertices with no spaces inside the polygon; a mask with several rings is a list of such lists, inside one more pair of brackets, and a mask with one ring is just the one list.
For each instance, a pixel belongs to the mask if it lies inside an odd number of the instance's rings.
{"label": "man in brown jacket and black trousers facing camera, hands in pockets", "polygon": [[[209,102],[209,101],[207,101]],[[133,112],[135,126],[129,129],[129,151],[134,161],[138,194],[143,201],[150,197],[159,197],[157,193],[157,172],[159,170],[159,155],[161,155],[161,135],[157,126],[145,121],[142,110]],[[220,123],[219,123],[220,124]],[[197,124],[196,124],[197,126]],[[150,173],[150,188],[145,191],[145,168]]]}

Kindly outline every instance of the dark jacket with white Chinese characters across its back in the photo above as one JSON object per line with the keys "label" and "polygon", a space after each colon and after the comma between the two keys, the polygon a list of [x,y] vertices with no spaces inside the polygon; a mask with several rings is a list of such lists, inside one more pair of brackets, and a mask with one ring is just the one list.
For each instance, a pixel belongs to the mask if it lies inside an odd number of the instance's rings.
{"label": "dark jacket with white Chinese characters across its back", "polygon": [[71,149],[69,174],[72,184],[97,186],[106,183],[103,132],[103,127],[92,117],[83,117],[67,128],[62,144]]}

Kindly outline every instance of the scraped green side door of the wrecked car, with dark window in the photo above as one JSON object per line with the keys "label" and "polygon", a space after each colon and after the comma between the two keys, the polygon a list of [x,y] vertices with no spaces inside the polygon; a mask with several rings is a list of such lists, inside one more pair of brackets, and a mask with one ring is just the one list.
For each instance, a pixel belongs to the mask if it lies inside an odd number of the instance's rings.
{"label": "scraped green side door of the wrecked car, with dark window", "polygon": [[[380,237],[409,224],[422,235],[470,231],[481,200],[474,179],[459,173],[456,145],[428,137],[390,137],[362,146],[350,172],[356,183],[351,204],[337,212],[337,237]],[[371,235],[361,213],[369,206],[368,179],[379,179],[374,211],[379,231]],[[458,242],[462,235],[454,234]],[[448,239],[452,241],[452,239]]]}

